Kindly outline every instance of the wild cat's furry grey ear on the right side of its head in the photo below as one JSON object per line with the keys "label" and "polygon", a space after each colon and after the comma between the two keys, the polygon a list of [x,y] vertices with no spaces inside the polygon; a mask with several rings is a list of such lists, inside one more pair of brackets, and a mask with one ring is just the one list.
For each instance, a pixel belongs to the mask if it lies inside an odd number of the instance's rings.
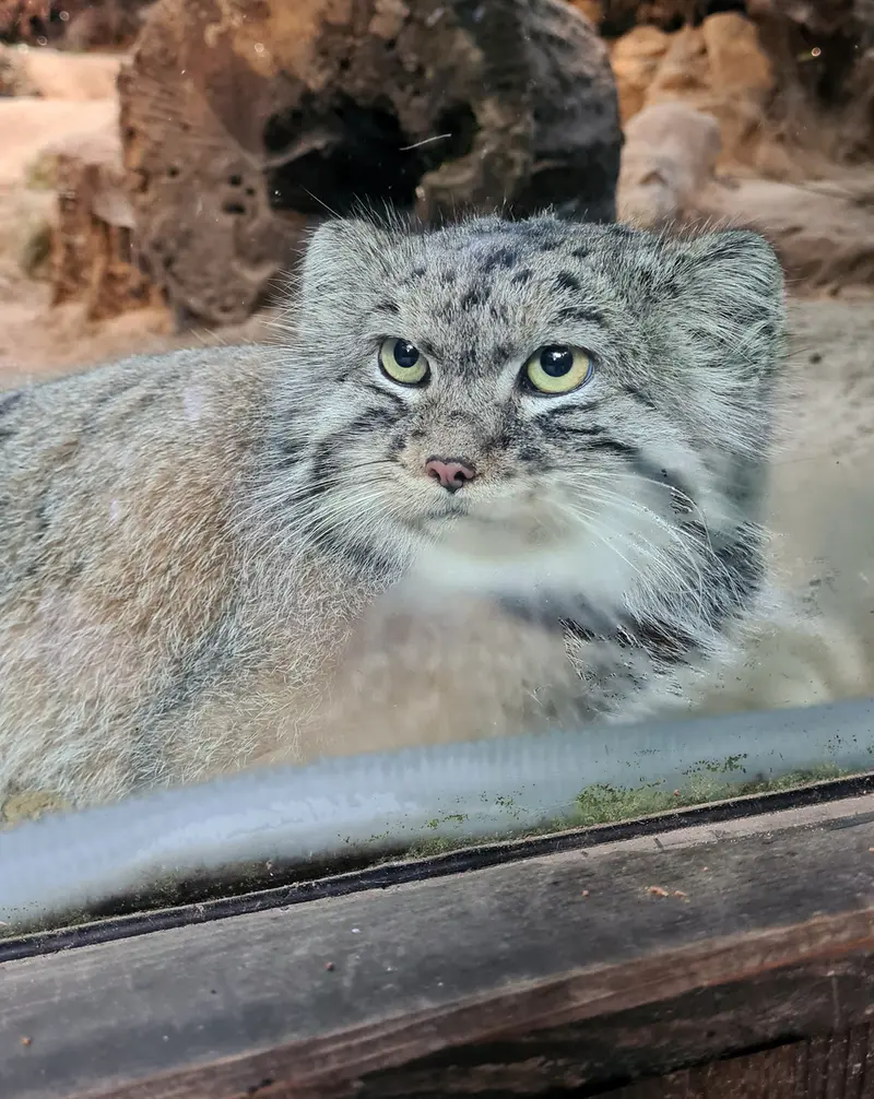
{"label": "wild cat's furry grey ear on the right side of its head", "polygon": [[757,233],[724,230],[672,242],[661,282],[665,320],[690,356],[740,376],[773,374],[783,358],[783,270]]}

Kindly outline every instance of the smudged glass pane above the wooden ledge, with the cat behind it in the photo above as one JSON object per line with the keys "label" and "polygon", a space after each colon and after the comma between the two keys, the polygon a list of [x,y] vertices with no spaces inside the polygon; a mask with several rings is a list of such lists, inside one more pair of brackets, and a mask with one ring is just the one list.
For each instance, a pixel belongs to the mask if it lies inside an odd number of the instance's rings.
{"label": "smudged glass pane above the wooden ledge, with the cat behind it", "polygon": [[352,9],[0,0],[3,934],[870,769],[864,7]]}

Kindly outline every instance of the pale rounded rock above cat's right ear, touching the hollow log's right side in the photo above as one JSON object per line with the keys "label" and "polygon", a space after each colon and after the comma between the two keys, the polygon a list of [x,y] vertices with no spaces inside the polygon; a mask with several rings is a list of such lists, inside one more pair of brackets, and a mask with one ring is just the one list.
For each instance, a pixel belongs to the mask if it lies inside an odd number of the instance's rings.
{"label": "pale rounded rock above cat's right ear, touching the hollow log's right side", "polygon": [[686,103],[656,103],[635,114],[622,148],[620,220],[659,229],[694,213],[719,148],[717,120]]}

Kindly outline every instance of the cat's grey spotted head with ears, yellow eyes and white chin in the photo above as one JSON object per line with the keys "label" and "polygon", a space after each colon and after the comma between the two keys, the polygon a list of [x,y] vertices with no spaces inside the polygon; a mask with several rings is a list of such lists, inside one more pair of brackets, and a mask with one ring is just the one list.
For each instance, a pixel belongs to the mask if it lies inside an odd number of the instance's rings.
{"label": "cat's grey spotted head with ears, yellow eyes and white chin", "polygon": [[298,308],[274,491],[329,552],[628,591],[750,518],[782,338],[751,234],[339,222]]}

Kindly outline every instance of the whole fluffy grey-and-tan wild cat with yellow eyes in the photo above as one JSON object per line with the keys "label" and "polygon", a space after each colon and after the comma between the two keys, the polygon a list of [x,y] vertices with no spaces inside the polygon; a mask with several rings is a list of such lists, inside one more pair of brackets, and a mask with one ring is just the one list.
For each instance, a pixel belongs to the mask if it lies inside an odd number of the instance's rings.
{"label": "whole fluffy grey-and-tan wild cat with yellow eyes", "polygon": [[[782,613],[764,242],[331,223],[296,310],[286,348],[0,395],[0,801],[633,720],[740,674]],[[568,347],[578,385],[536,389]]]}

